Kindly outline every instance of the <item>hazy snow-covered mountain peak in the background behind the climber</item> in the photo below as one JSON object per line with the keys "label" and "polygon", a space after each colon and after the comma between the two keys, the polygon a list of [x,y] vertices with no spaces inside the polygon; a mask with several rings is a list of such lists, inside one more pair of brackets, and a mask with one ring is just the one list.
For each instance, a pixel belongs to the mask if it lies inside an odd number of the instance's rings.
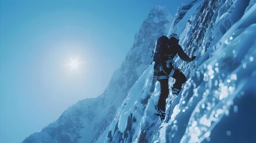
{"label": "hazy snow-covered mountain peak in the background behind the climber", "polygon": [[95,142],[114,119],[131,86],[151,63],[155,39],[168,32],[171,21],[172,17],[165,7],[153,8],[104,93],[69,107],[58,120],[23,142]]}

